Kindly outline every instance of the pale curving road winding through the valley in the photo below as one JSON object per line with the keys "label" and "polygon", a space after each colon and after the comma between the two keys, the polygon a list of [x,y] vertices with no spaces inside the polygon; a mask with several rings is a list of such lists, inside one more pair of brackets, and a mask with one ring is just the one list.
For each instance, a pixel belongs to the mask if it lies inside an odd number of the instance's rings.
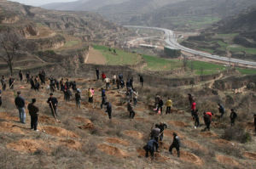
{"label": "pale curving road winding through the valley", "polygon": [[201,51],[197,51],[195,49],[183,47],[182,45],[180,45],[177,42],[177,36],[175,35],[175,33],[172,30],[168,30],[168,29],[165,29],[165,28],[159,28],[159,27],[146,27],[146,26],[137,26],[137,25],[125,25],[124,27],[164,31],[165,32],[165,38],[166,38],[165,41],[166,41],[166,44],[167,44],[166,47],[181,49],[182,51],[187,52],[189,54],[195,54],[195,55],[199,55],[199,56],[209,58],[209,59],[215,59],[215,60],[220,60],[220,61],[224,61],[224,62],[230,62],[230,63],[238,64],[238,65],[256,66],[256,62],[253,62],[253,61],[247,61],[247,60],[243,60],[243,59],[227,58],[227,57],[207,54],[207,53],[204,53],[204,52],[201,52]]}

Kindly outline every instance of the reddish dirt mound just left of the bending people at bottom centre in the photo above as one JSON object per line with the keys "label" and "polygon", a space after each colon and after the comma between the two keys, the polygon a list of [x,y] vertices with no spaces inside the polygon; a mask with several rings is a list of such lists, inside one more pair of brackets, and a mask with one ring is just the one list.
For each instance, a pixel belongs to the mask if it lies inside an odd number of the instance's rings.
{"label": "reddish dirt mound just left of the bending people at bottom centre", "polygon": [[108,144],[98,144],[97,148],[108,155],[113,155],[113,156],[116,156],[119,158],[124,158],[124,157],[129,156],[128,153],[125,152],[124,150],[113,147]]}

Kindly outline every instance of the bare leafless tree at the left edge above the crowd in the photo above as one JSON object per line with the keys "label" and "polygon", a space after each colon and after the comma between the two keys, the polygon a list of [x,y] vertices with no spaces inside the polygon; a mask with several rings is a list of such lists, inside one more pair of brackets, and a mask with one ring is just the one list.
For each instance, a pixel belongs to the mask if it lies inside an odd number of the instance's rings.
{"label": "bare leafless tree at the left edge above the crowd", "polygon": [[15,32],[4,31],[0,33],[0,59],[9,67],[11,76],[13,75],[13,62],[20,48],[20,37]]}

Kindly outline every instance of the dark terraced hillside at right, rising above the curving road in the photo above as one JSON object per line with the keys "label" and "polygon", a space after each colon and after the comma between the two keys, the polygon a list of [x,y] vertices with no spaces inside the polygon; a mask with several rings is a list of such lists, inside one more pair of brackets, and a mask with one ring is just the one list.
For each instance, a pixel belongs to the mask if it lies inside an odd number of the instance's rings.
{"label": "dark terraced hillside at right, rising above the curving road", "polygon": [[189,37],[183,45],[212,54],[255,60],[255,14],[256,9],[250,8],[241,14],[221,20],[202,31],[200,36]]}

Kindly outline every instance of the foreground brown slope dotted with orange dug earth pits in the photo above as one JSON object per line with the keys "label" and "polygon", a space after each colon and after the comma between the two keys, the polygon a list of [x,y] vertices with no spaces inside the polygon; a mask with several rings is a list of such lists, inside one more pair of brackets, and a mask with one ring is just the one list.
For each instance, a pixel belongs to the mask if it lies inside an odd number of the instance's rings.
{"label": "foreground brown slope dotted with orange dug earth pits", "polygon": [[[108,101],[113,105],[113,119],[101,110],[102,81],[95,80],[95,68],[112,76],[113,72],[124,73],[124,78],[135,77],[135,87],[139,90],[139,99],[135,107],[136,117],[128,117],[125,103],[125,89],[116,89],[112,85],[107,91]],[[110,69],[111,68],[111,69]],[[238,76],[225,74],[213,77],[207,82],[171,87],[175,80],[165,82],[163,78],[148,76],[145,86],[141,88],[137,73],[128,72],[118,66],[94,65],[84,66],[77,77],[69,77],[76,81],[82,90],[81,109],[76,108],[74,98],[66,102],[63,93],[55,92],[59,99],[58,119],[50,114],[49,89],[46,85],[40,92],[30,89],[26,82],[16,82],[15,90],[3,92],[3,106],[0,108],[0,167],[11,168],[252,168],[256,165],[255,137],[253,136],[253,110],[255,109],[255,88],[248,90],[244,84],[255,83],[255,76]],[[61,70],[47,70],[47,76],[64,77]],[[32,71],[37,74],[38,71]],[[53,73],[53,74],[52,74]],[[146,77],[146,75],[145,75]],[[162,86],[159,85],[162,83]],[[165,83],[165,84],[164,84]],[[171,86],[170,86],[171,85]],[[87,89],[94,87],[95,104],[88,103]],[[255,87],[255,85],[254,85]],[[233,93],[232,88],[239,88],[241,93]],[[30,118],[21,124],[14,106],[15,91],[21,91],[28,103],[32,98],[38,101],[40,109],[40,132],[30,130]],[[213,92],[215,91],[215,92]],[[160,94],[166,101],[173,100],[171,115],[154,115],[154,96]],[[197,108],[200,110],[201,127],[194,128],[191,119],[187,93],[193,93]],[[236,100],[236,102],[235,102]],[[217,103],[226,108],[224,118],[218,115]],[[96,106],[94,108],[94,106]],[[235,127],[230,127],[230,108],[235,108],[238,119]],[[210,132],[204,131],[202,112],[214,113]],[[165,121],[167,129],[159,152],[155,153],[154,161],[144,158],[143,146],[147,143],[152,124]],[[181,157],[168,153],[172,143],[172,132],[181,138]],[[10,162],[11,161],[11,162]]]}

